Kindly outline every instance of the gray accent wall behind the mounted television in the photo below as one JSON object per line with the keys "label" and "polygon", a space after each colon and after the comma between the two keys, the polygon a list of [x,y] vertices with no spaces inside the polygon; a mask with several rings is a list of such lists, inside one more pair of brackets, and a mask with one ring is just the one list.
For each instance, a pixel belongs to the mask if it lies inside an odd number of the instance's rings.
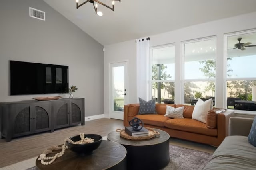
{"label": "gray accent wall behind the mounted television", "polygon": [[[63,2],[64,3],[64,2]],[[46,12],[46,21],[29,16]],[[9,60],[69,66],[74,97],[85,98],[85,115],[104,113],[103,46],[43,0],[0,0],[0,102],[32,100],[38,94],[10,96]]]}

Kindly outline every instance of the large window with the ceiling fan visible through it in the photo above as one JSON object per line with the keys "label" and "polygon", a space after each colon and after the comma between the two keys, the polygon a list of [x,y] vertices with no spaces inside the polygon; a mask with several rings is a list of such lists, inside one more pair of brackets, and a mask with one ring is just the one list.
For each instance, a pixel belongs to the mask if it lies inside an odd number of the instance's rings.
{"label": "large window with the ceiling fan visible through it", "polygon": [[225,37],[227,108],[256,111],[256,30]]}

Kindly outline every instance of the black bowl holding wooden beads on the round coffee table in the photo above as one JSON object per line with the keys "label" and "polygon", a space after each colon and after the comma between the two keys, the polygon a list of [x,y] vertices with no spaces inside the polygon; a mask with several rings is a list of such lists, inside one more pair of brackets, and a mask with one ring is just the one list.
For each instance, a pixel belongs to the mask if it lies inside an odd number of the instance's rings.
{"label": "black bowl holding wooden beads on the round coffee table", "polygon": [[[86,137],[94,139],[94,142],[84,144],[72,144],[67,141],[66,145],[68,146],[68,148],[70,148],[70,150],[76,152],[79,155],[92,154],[93,151],[100,146],[100,143],[102,142],[102,136],[97,134],[84,134],[84,138]],[[79,135],[70,137],[69,139],[71,139],[73,142],[81,140]]]}

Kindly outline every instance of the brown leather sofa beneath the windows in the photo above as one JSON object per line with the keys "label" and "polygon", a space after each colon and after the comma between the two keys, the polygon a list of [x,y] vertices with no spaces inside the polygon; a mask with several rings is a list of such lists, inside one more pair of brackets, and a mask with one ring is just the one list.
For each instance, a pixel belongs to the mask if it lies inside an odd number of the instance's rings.
{"label": "brown leather sofa beneath the windows", "polygon": [[[166,105],[178,108],[184,106],[183,117],[174,118],[164,116]],[[213,109],[208,111],[207,122],[192,119],[195,106],[182,104],[156,104],[157,114],[138,115],[140,105],[128,104],[124,106],[124,126],[129,126],[129,121],[138,117],[144,127],[161,129],[169,133],[170,137],[186,139],[189,141],[219,146],[228,136],[229,118],[234,116],[233,110]]]}

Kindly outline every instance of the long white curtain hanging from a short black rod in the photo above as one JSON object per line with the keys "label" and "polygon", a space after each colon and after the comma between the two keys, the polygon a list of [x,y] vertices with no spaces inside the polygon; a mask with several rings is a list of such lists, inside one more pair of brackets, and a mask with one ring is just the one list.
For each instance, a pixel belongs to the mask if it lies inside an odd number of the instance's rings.
{"label": "long white curtain hanging from a short black rod", "polygon": [[137,46],[137,102],[139,97],[150,100],[149,97],[149,43],[147,38],[136,39]]}

